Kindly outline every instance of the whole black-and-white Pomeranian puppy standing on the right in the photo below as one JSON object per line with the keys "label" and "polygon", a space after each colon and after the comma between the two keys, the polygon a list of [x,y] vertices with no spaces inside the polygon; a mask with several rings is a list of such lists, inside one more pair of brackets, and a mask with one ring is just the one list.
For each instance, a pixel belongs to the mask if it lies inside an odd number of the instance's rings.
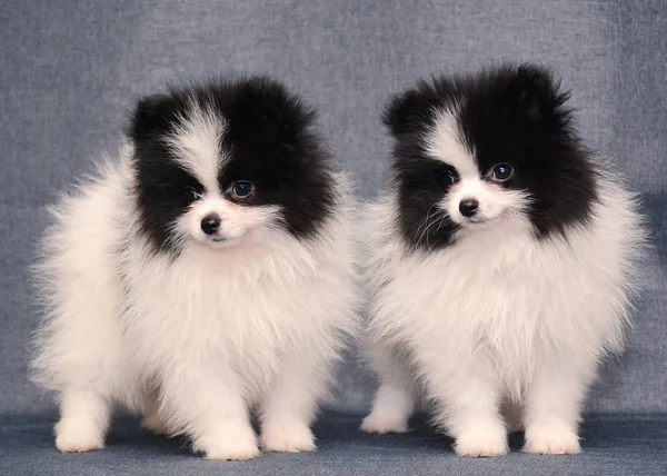
{"label": "whole black-and-white Pomeranian puppy standing on the right", "polygon": [[525,428],[526,452],[580,450],[645,234],[567,99],[524,65],[421,81],[389,105],[394,180],[367,221],[380,386],[362,430],[405,432],[426,401],[460,456],[506,454],[508,426]]}

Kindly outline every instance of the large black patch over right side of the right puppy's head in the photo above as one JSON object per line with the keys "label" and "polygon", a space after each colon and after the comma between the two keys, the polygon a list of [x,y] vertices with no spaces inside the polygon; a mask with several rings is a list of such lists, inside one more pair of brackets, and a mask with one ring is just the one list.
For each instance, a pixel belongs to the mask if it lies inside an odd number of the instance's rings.
{"label": "large black patch over right side of the right puppy's head", "polygon": [[477,90],[481,93],[467,97],[461,126],[480,173],[499,162],[514,167],[502,187],[528,192],[528,218],[538,238],[589,221],[596,171],[573,129],[565,106],[569,92],[560,91],[548,70],[531,65],[487,72]]}

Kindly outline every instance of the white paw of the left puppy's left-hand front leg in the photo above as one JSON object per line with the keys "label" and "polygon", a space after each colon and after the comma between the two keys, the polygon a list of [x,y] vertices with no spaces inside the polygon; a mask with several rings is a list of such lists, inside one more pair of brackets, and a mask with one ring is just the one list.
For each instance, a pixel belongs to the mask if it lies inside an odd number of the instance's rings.
{"label": "white paw of the left puppy's left-hand front leg", "polygon": [[198,438],[192,448],[203,453],[206,459],[245,462],[259,456],[257,438],[249,426],[220,428]]}

